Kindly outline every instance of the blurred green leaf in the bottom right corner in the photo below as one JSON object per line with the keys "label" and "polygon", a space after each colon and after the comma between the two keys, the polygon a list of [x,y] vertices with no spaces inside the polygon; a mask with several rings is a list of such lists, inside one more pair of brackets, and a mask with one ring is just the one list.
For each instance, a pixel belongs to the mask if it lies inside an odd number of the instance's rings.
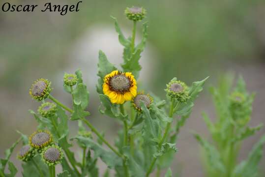
{"label": "blurred green leaf in the bottom right corner", "polygon": [[265,144],[265,135],[252,148],[247,160],[242,161],[236,166],[232,177],[257,177],[258,165],[263,156],[263,147]]}

